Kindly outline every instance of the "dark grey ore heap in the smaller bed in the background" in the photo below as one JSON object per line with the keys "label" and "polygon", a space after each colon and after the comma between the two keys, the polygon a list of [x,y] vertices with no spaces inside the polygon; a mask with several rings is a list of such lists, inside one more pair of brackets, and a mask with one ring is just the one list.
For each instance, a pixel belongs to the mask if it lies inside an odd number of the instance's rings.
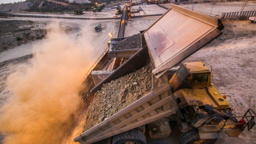
{"label": "dark grey ore heap in the smaller bed in the background", "polygon": [[127,49],[140,49],[141,46],[141,38],[140,33],[132,36],[128,36],[122,41],[118,42],[112,47],[112,50],[127,50]]}

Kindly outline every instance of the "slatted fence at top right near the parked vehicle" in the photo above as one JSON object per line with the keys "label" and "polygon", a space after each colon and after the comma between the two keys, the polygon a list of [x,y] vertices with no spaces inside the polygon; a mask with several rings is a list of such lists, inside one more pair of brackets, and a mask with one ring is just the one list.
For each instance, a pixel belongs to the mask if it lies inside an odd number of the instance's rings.
{"label": "slatted fence at top right near the parked vehicle", "polygon": [[248,19],[249,17],[255,16],[256,11],[243,11],[243,12],[230,12],[222,13],[223,19],[235,20],[235,19]]}

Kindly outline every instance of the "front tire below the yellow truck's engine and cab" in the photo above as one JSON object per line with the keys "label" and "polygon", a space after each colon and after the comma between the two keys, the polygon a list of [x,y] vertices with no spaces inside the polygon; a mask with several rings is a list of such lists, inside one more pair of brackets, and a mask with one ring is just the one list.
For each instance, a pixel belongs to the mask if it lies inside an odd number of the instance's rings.
{"label": "front tire below the yellow truck's engine and cab", "polygon": [[201,143],[201,144],[212,144],[217,141],[215,139],[200,139],[199,134],[196,130],[190,130],[187,132],[183,132],[181,134],[181,143],[182,144],[192,144],[192,143]]}

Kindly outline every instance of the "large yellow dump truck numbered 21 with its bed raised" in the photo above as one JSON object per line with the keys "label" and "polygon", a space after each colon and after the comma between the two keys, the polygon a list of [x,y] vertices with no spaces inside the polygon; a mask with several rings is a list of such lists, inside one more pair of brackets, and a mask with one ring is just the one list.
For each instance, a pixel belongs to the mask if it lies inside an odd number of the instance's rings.
{"label": "large yellow dump truck numbered 21 with its bed raised", "polygon": [[[234,116],[232,107],[211,83],[209,64],[184,62],[175,73],[170,69],[221,35],[220,19],[171,5],[171,8],[141,34],[137,51],[90,92],[105,83],[142,67],[152,69],[153,90],[114,115],[79,134],[75,142],[146,144],[145,129],[153,138],[169,136],[169,121],[175,117],[181,143],[214,143],[220,132],[239,136],[255,125],[255,113]],[[209,65],[209,67],[211,67]],[[146,126],[145,126],[146,125]]]}

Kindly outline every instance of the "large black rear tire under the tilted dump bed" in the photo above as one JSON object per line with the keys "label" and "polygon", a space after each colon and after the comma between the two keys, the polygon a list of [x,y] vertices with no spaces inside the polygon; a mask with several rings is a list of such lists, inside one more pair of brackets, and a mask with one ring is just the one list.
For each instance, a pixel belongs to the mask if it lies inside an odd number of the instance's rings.
{"label": "large black rear tire under the tilted dump bed", "polygon": [[146,144],[146,137],[144,133],[137,129],[132,129],[121,134],[113,136],[112,144],[124,144],[125,142],[135,144]]}

